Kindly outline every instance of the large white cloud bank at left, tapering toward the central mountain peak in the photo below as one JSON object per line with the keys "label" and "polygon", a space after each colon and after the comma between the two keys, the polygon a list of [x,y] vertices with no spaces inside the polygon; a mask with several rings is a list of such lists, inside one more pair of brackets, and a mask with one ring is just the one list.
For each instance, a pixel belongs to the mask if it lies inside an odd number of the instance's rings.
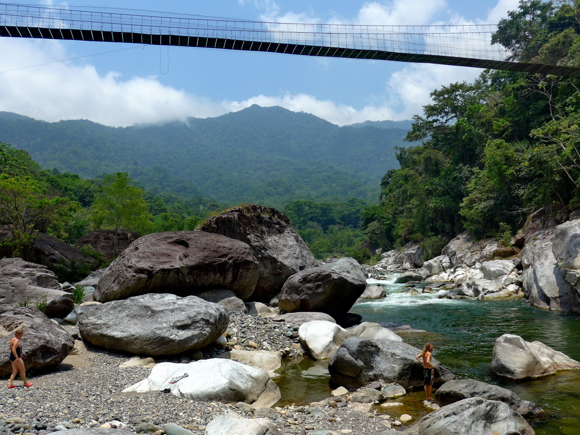
{"label": "large white cloud bank at left, tapering toward the central mountain peak", "polygon": [[90,119],[111,126],[224,113],[220,104],[161,85],[155,77],[125,79],[114,71],[102,76],[93,66],[68,61],[10,71],[66,57],[61,44],[42,42],[0,39],[0,70],[8,71],[0,81],[0,110],[45,121]]}

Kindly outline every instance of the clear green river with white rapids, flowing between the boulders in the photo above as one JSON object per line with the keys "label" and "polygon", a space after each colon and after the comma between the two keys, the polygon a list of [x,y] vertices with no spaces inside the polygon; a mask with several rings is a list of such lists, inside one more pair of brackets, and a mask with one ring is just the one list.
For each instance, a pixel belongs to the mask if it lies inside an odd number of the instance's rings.
{"label": "clear green river with white rapids, flowing between the boulders", "polygon": [[[434,345],[433,356],[458,378],[494,383],[517,393],[548,411],[550,417],[532,423],[538,435],[576,435],[580,433],[580,371],[566,371],[527,382],[509,382],[490,373],[494,341],[503,333],[520,335],[526,341],[538,340],[575,360],[580,360],[580,317],[543,311],[525,299],[438,299],[438,294],[411,296],[394,284],[396,274],[369,279],[383,285],[386,298],[358,302],[350,310],[363,321],[408,324],[426,333],[401,335],[419,349],[425,342]],[[308,358],[286,365],[278,380],[282,397],[296,404],[320,400],[329,393],[328,361]],[[424,414],[422,391],[409,394],[402,411]],[[398,400],[400,401],[400,400]]]}

